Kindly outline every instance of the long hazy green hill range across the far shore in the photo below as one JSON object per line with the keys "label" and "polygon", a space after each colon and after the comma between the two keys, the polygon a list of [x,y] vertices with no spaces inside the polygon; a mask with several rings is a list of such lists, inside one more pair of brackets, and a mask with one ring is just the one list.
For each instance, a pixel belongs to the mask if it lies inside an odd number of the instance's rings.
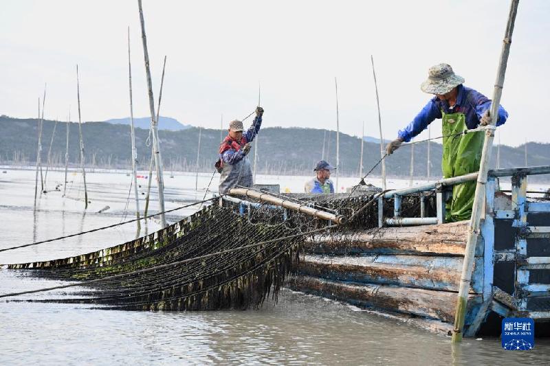
{"label": "long hazy green hill range across the far shore", "polygon": [[[54,130],[54,121],[46,120],[43,125],[42,161],[47,161],[47,152]],[[52,144],[50,161],[52,165],[65,164],[66,144],[65,122],[56,124],[56,133]],[[29,164],[36,163],[38,141],[38,121],[36,119],[16,119],[0,116],[0,163]],[[82,125],[85,161],[89,168],[122,168],[131,166],[129,126],[108,124],[105,122],[87,122]],[[213,171],[218,158],[221,137],[226,131],[201,128],[201,149],[199,170]],[[336,132],[327,131],[325,142],[325,160],[336,164]],[[196,170],[199,128],[185,130],[159,130],[162,160],[166,170]],[[151,159],[151,147],[147,146],[148,130],[135,129],[135,139],[139,168],[148,168]],[[260,174],[311,174],[316,161],[322,158],[325,130],[316,128],[263,128],[259,134],[258,172]],[[359,137],[340,134],[340,173],[358,176],[360,159]],[[441,144],[430,144],[432,167],[430,176],[441,176]],[[525,165],[525,146],[512,148],[501,146],[500,167],[511,168]],[[529,165],[550,165],[550,144],[527,144]],[[404,146],[386,159],[386,170],[390,176],[409,176],[411,146]],[[254,154],[252,149],[251,156]],[[427,143],[415,144],[415,176],[426,176]],[[380,159],[380,145],[364,142],[363,174],[366,174]],[[80,163],[78,147],[78,124],[69,123],[69,161],[72,166]],[[492,165],[496,163],[496,148],[493,149]],[[373,170],[380,175],[380,166]]]}

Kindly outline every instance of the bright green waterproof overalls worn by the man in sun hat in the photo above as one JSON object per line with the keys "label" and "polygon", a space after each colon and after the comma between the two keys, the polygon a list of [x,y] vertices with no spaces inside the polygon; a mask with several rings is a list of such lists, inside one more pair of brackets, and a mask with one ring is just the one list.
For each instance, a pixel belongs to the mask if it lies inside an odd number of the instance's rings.
{"label": "bright green waterproof overalls worn by the man in sun hat", "polygon": [[[444,113],[443,135],[454,135],[467,130],[464,113]],[[482,131],[443,137],[443,178],[452,178],[477,172],[481,162],[484,134]],[[448,222],[470,220],[476,182],[466,182],[452,187],[452,198],[445,205],[445,220]]]}

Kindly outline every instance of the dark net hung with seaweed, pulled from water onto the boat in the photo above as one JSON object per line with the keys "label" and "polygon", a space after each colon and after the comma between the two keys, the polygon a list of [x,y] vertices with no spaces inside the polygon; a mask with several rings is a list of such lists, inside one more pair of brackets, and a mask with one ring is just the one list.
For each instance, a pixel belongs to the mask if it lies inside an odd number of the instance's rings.
{"label": "dark net hung with seaweed, pulled from water onto the boat", "polygon": [[[131,242],[8,268],[27,269],[30,275],[76,281],[83,286],[76,297],[39,301],[126,310],[257,308],[269,295],[276,301],[285,277],[296,268],[307,236],[328,229],[344,235],[377,227],[375,194],[285,195],[336,214],[355,214],[341,227],[281,207],[224,200],[223,205],[203,207],[184,220]],[[426,206],[434,206],[429,197]],[[402,207],[404,214],[419,216],[419,196],[404,198]],[[388,216],[393,213],[391,200],[386,200],[384,211]]]}

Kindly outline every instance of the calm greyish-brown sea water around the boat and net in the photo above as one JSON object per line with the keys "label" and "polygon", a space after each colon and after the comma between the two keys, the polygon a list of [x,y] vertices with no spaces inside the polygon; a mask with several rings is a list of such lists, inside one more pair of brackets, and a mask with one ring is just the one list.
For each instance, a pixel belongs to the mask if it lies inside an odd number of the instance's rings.
{"label": "calm greyish-brown sea water around the boat and net", "polygon": [[[3,170],[3,169],[2,169]],[[166,209],[199,201],[210,181],[200,174],[166,174]],[[259,183],[278,183],[300,192],[307,177],[259,176]],[[138,179],[140,198],[146,179]],[[50,171],[47,190],[64,181]],[[121,172],[89,172],[88,209],[84,210],[82,176],[69,174],[67,197],[42,194],[34,209],[34,172],[8,169],[0,173],[0,248],[93,229],[133,217],[131,177]],[[341,186],[357,179],[342,178]],[[373,181],[373,183],[379,183]],[[390,187],[406,186],[391,180]],[[211,189],[215,189],[214,177]],[[532,187],[530,187],[531,189]],[[60,187],[63,191],[63,186]],[[157,209],[153,190],[151,211]],[[128,201],[128,197],[130,200]],[[80,201],[79,201],[80,200]],[[142,209],[144,202],[141,202]],[[109,206],[108,209],[105,209]],[[98,211],[104,209],[101,213]],[[170,222],[195,210],[175,211]],[[110,247],[159,228],[152,220],[0,252],[0,263],[63,258]],[[58,282],[28,278],[0,270],[0,293],[53,286]],[[26,295],[17,299],[70,296],[76,289]],[[15,298],[12,298],[12,300]],[[279,301],[261,310],[216,312],[126,312],[82,305],[0,301],[0,363],[7,365],[89,364],[292,364],[332,365],[550,365],[550,339],[537,339],[529,352],[500,348],[499,339],[450,338],[432,334],[380,314],[336,301],[283,290]]]}

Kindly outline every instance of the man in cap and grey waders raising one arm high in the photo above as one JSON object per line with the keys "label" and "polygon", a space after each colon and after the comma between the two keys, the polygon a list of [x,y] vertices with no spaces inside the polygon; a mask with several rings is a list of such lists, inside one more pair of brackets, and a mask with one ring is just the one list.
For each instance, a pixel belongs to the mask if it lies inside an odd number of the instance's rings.
{"label": "man in cap and grey waders raising one arm high", "polygon": [[243,133],[243,122],[234,119],[229,124],[229,133],[219,147],[219,160],[216,169],[221,173],[219,194],[227,194],[234,187],[252,187],[252,168],[248,159],[250,144],[258,135],[262,124],[263,108],[256,108],[256,117],[248,130]]}

